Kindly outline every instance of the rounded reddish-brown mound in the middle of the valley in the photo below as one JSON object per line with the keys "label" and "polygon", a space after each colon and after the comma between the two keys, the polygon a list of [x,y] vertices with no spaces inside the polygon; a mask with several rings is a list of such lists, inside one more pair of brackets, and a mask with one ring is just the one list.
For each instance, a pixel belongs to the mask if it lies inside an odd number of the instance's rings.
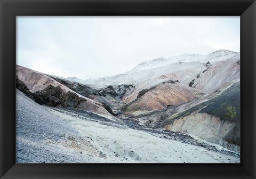
{"label": "rounded reddish-brown mound in the middle of the valley", "polygon": [[137,99],[128,103],[124,111],[161,110],[172,105],[189,102],[200,96],[202,94],[194,88],[170,80],[140,91]]}

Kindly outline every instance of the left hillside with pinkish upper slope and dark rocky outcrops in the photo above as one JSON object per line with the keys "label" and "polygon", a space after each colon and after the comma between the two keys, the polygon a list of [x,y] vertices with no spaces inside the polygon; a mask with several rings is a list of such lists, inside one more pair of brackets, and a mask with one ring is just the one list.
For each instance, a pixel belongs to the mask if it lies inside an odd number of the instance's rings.
{"label": "left hillside with pinkish upper slope and dark rocky outcrops", "polygon": [[[57,82],[53,78],[25,67],[17,66],[17,83],[22,85],[26,91],[33,93],[34,100],[39,104],[50,105],[51,107],[76,107],[89,110],[102,115],[111,115],[101,103],[95,102],[67,86]],[[17,88],[22,92],[17,85]],[[26,92],[25,92],[26,94]]]}

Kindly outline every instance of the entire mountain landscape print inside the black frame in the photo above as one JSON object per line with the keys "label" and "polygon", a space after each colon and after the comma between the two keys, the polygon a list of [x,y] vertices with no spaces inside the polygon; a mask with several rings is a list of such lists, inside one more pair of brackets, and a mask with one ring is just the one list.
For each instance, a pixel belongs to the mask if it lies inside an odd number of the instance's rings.
{"label": "entire mountain landscape print inside the black frame", "polygon": [[17,16],[17,163],[240,163],[240,18]]}

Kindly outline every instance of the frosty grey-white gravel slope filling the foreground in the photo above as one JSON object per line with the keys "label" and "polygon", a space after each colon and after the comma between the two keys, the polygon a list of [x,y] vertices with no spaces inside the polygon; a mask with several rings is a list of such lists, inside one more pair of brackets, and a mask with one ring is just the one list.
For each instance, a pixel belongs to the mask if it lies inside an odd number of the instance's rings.
{"label": "frosty grey-white gravel slope filling the foreground", "polygon": [[17,162],[229,163],[240,158],[190,136],[135,129],[92,112],[49,108],[17,90]]}

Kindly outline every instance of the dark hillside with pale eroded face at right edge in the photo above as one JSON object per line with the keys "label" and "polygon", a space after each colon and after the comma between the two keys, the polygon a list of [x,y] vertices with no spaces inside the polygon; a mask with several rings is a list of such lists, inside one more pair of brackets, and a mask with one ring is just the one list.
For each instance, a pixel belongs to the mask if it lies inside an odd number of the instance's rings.
{"label": "dark hillside with pale eroded face at right edge", "polygon": [[174,113],[161,125],[239,151],[240,113],[240,84],[236,83],[210,100]]}

